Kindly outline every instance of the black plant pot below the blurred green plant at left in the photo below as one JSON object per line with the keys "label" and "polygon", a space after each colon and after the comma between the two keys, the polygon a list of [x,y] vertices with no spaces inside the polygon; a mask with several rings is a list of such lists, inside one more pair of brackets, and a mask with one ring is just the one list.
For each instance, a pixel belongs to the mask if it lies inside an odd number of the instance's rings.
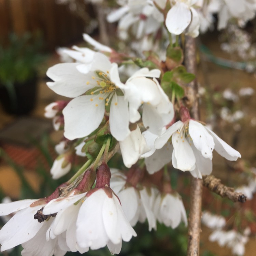
{"label": "black plant pot below the blurred green plant at left", "polygon": [[14,115],[28,114],[35,106],[37,98],[37,76],[25,83],[14,84],[14,97],[10,94],[4,85],[0,84],[0,101],[5,112]]}

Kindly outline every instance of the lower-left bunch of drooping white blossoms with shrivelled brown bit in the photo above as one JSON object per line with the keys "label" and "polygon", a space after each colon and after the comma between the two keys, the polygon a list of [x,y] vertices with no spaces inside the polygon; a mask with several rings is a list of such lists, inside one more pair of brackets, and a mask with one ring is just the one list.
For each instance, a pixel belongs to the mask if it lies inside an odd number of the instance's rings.
{"label": "lower-left bunch of drooping white blossoms with shrivelled brown bit", "polygon": [[58,197],[57,188],[48,198],[0,204],[1,215],[18,211],[0,231],[1,250],[22,244],[22,255],[63,256],[107,245],[112,254],[119,253],[122,240],[129,241],[136,232],[109,187],[109,168],[99,167],[96,186],[90,190],[93,176],[93,171],[86,172],[82,185],[66,197]]}

